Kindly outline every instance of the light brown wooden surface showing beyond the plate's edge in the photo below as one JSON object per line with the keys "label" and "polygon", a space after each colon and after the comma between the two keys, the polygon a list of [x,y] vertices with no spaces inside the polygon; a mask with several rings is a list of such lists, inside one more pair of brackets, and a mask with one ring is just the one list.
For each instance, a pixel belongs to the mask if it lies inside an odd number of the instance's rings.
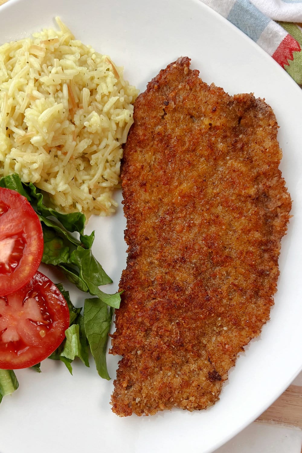
{"label": "light brown wooden surface showing beyond the plate's edge", "polygon": [[[0,5],[6,1],[8,0],[0,0]],[[256,421],[296,426],[302,429],[302,387],[289,386]]]}

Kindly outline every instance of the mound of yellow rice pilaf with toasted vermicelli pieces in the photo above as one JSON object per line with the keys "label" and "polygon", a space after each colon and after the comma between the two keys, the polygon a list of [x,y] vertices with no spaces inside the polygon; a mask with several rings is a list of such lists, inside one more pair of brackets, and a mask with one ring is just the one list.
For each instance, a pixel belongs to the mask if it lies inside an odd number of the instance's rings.
{"label": "mound of yellow rice pilaf with toasted vermicelli pieces", "polygon": [[18,173],[59,211],[107,215],[138,91],[56,20],[0,47],[0,176]]}

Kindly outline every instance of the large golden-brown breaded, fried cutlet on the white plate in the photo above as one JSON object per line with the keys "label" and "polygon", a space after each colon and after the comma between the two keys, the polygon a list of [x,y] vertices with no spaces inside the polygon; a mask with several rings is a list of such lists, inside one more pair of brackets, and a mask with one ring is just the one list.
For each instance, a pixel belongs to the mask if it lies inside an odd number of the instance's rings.
{"label": "large golden-brown breaded, fried cutlet on the white plate", "polygon": [[291,199],[272,109],[180,58],[134,104],[122,190],[127,268],[112,410],[213,405],[269,319]]}

